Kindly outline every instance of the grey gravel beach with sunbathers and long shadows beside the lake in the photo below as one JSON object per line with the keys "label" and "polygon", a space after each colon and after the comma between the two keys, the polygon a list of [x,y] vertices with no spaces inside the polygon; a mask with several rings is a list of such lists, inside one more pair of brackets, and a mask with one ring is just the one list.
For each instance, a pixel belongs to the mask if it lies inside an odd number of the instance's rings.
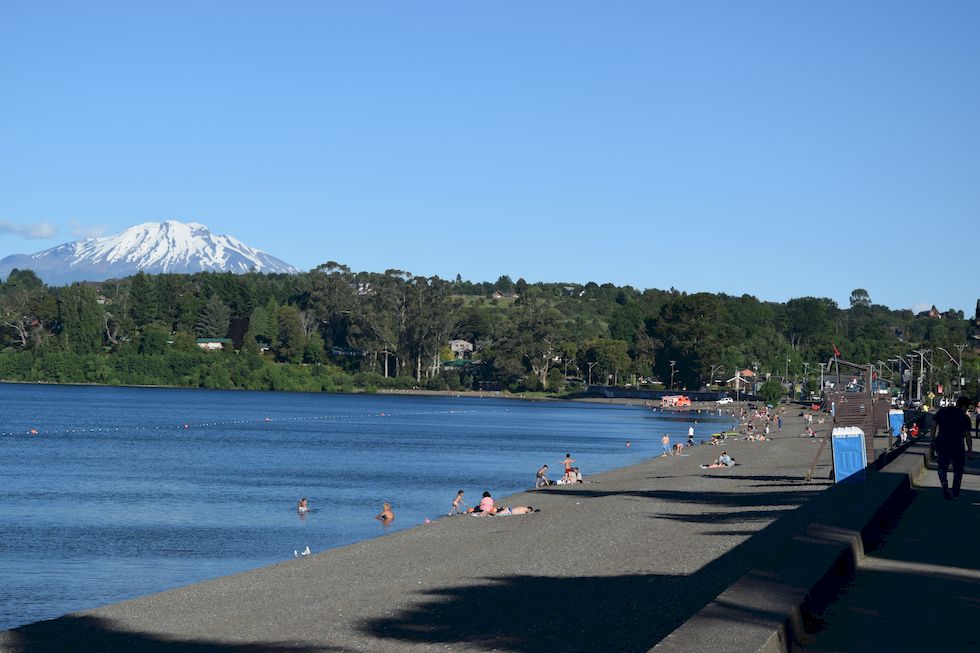
{"label": "grey gravel beach with sunbathers and long shadows beside the lake", "polygon": [[[0,633],[0,651],[646,651],[784,544],[827,487],[829,450],[806,483],[819,439],[784,410],[766,442],[596,476],[580,459],[586,483],[498,500],[538,513],[444,517]],[[699,468],[723,449],[735,467]]]}

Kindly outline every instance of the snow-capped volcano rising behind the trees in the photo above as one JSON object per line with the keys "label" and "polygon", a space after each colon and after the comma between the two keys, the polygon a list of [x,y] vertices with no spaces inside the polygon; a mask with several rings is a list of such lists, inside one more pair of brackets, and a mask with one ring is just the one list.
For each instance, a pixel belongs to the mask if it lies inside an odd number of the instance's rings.
{"label": "snow-capped volcano rising behind the trees", "polygon": [[147,273],[299,272],[231,236],[211,233],[196,222],[144,222],[112,236],[87,238],[36,254],[0,260],[0,278],[14,268],[33,270],[46,283],[103,281]]}

